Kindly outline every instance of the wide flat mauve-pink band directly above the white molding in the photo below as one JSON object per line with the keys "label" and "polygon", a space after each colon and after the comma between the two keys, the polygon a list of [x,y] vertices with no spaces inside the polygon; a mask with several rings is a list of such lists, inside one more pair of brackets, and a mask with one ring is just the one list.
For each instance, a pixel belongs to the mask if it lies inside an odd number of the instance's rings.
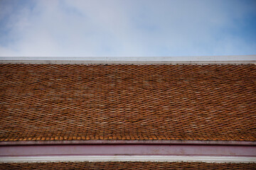
{"label": "wide flat mauve-pink band directly above the white molding", "polygon": [[5,145],[0,157],[33,157],[51,155],[178,155],[256,157],[256,146],[250,145]]}

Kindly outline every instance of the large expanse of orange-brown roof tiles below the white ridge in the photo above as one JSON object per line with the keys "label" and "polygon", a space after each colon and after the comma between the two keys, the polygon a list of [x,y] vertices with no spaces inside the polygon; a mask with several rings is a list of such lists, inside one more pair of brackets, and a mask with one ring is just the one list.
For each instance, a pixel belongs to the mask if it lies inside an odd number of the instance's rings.
{"label": "large expanse of orange-brown roof tiles below the white ridge", "polygon": [[1,141],[256,140],[254,64],[0,64],[0,72]]}

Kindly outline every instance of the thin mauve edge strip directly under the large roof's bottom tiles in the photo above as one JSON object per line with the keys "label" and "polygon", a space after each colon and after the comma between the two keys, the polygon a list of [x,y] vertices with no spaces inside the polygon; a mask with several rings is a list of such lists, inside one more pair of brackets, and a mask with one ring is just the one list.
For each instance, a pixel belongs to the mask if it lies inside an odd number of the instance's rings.
{"label": "thin mauve edge strip directly under the large roof's bottom tiles", "polygon": [[53,140],[53,141],[6,141],[3,145],[256,145],[256,141],[220,140]]}

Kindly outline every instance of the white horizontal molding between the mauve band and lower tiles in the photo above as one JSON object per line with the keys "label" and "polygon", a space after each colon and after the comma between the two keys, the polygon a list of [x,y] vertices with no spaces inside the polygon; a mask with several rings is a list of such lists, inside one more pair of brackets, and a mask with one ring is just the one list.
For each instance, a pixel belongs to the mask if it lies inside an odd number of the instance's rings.
{"label": "white horizontal molding between the mauve band and lower tiles", "polygon": [[179,156],[65,156],[1,157],[1,163],[14,162],[208,162],[255,163],[256,157],[179,157]]}

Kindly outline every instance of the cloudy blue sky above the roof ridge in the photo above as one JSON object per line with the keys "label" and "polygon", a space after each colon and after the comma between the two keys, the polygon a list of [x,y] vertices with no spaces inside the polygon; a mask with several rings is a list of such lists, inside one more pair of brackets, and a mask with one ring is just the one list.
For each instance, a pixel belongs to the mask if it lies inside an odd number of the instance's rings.
{"label": "cloudy blue sky above the roof ridge", "polygon": [[0,0],[1,57],[256,55],[255,0]]}

